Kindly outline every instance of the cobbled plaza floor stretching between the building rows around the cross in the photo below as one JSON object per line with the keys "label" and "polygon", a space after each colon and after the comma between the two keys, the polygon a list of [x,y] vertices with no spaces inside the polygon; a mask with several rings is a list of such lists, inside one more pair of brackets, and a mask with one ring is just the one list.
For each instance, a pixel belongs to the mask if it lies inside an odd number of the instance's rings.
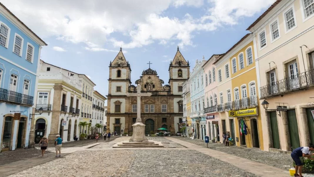
{"label": "cobbled plaza floor stretching between the building rows around the cross", "polygon": [[[218,143],[209,143],[209,148],[206,148],[203,141],[183,137],[148,137],[150,141],[162,142],[163,148],[112,148],[114,144],[129,138],[122,136],[110,142],[99,140],[85,146],[68,146],[63,149],[65,156],[62,158],[54,158],[50,152],[50,157],[41,158],[46,159],[45,162],[23,170],[14,169],[16,173],[8,176],[284,177],[289,176],[288,169],[292,165],[286,154],[224,147]],[[261,158],[258,159],[258,156]],[[275,161],[277,158],[279,160]],[[271,165],[267,164],[272,161]],[[19,161],[14,163],[23,166]],[[3,172],[1,167],[0,172]]]}

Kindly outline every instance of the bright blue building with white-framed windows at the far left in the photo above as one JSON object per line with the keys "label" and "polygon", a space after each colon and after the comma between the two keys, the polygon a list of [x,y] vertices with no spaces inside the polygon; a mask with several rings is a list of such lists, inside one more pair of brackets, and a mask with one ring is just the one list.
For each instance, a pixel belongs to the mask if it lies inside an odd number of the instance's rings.
{"label": "bright blue building with white-framed windows at the far left", "polygon": [[36,73],[45,45],[0,3],[0,152],[29,146]]}

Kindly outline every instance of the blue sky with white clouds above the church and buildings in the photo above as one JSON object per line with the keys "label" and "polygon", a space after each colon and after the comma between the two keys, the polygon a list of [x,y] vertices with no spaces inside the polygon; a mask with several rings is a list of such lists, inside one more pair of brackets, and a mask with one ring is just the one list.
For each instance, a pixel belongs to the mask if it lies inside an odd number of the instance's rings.
{"label": "blue sky with white clouds above the church and buildings", "polygon": [[274,0],[2,0],[48,46],[41,59],[85,74],[108,93],[120,47],[134,84],[149,61],[165,83],[177,46],[191,63],[224,53]]}

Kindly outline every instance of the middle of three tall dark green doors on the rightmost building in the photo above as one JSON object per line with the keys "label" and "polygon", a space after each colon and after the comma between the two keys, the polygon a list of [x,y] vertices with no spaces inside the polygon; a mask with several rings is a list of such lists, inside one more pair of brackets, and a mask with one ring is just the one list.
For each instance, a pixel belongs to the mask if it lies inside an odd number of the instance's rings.
{"label": "middle of three tall dark green doors on the rightmost building", "polygon": [[298,122],[296,120],[295,109],[288,110],[288,126],[289,126],[289,133],[290,133],[290,142],[291,147],[298,148],[300,147],[300,138],[299,138],[299,129],[298,129]]}

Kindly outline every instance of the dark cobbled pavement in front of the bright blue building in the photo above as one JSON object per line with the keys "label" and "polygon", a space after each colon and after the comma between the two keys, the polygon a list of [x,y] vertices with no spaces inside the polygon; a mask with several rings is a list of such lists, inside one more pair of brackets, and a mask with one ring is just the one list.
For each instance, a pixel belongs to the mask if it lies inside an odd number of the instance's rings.
{"label": "dark cobbled pavement in front of the bright blue building", "polygon": [[[49,155],[51,154],[50,152],[48,153]],[[45,155],[46,154],[47,152]],[[15,151],[2,152],[0,153],[0,165],[39,156],[41,156],[41,150],[36,148],[16,149]]]}

